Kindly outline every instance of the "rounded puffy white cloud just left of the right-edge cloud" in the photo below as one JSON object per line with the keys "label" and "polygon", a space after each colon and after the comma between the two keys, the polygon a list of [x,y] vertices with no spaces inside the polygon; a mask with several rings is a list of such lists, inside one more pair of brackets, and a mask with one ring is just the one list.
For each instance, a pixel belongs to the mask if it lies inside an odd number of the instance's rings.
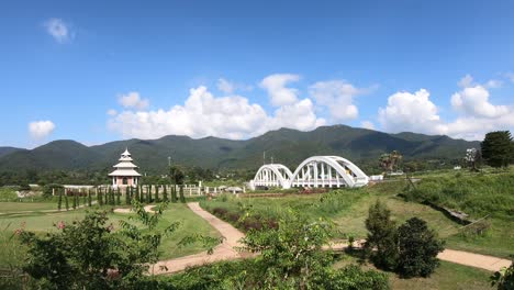
{"label": "rounded puffy white cloud just left of the right-edge cloud", "polygon": [[414,93],[396,92],[389,97],[388,105],[379,109],[379,122],[388,132],[440,132],[437,107],[429,100],[431,93],[421,89]]}

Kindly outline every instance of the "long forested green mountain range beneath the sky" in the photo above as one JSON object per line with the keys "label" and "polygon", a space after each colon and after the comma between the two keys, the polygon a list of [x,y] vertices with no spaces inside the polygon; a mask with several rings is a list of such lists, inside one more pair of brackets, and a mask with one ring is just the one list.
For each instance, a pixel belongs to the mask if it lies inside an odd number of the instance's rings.
{"label": "long forested green mountain range beneath the sky", "polygon": [[291,129],[270,131],[249,140],[191,138],[168,135],[158,140],[125,140],[96,146],[75,141],[53,141],[34,149],[0,147],[0,171],[109,170],[128,148],[144,172],[161,172],[172,164],[211,169],[255,169],[262,158],[295,168],[313,155],[338,155],[355,163],[377,160],[399,150],[405,159],[455,159],[479,142],[444,135],[389,134],[346,125],[321,126],[310,132]]}

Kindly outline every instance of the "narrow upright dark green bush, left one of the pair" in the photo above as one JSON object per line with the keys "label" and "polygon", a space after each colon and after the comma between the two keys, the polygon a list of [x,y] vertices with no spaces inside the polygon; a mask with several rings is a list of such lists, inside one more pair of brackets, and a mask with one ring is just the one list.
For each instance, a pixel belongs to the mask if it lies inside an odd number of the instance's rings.
{"label": "narrow upright dark green bush, left one of the pair", "polygon": [[[391,221],[391,211],[380,201],[369,208],[366,219],[368,237],[365,248],[377,267],[392,270],[396,267],[396,225]],[[372,250],[376,248],[377,250]]]}

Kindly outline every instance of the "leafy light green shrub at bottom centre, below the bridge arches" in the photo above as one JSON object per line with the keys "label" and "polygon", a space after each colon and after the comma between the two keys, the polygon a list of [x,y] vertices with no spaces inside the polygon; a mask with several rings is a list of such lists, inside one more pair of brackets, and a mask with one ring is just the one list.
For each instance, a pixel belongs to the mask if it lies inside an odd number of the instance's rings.
{"label": "leafy light green shrub at bottom centre, below the bridge arches", "polygon": [[264,288],[275,285],[311,288],[329,265],[328,254],[322,250],[329,237],[327,222],[311,222],[289,211],[278,221],[278,227],[249,230],[243,238],[243,248],[260,253],[256,264],[266,271]]}

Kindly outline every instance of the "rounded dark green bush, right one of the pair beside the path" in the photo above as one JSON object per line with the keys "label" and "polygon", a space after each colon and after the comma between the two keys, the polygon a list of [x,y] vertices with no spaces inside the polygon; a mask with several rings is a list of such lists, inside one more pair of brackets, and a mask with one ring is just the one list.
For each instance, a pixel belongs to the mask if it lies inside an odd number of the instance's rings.
{"label": "rounded dark green bush, right one of the pair beside the path", "polygon": [[436,238],[426,222],[412,217],[398,228],[399,258],[396,271],[405,277],[428,277],[439,265],[437,254],[444,243]]}

